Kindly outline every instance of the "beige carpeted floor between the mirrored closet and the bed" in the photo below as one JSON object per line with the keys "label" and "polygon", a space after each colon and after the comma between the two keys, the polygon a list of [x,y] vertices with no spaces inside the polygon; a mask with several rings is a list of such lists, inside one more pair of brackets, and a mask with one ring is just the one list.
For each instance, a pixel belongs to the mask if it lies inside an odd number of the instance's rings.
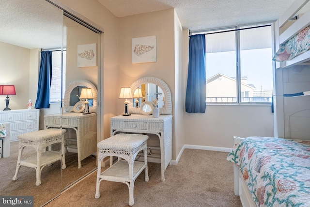
{"label": "beige carpeted floor between the mirrored closet and the bed", "polygon": [[[135,181],[135,207],[242,207],[233,192],[233,164],[228,153],[185,149],[178,165],[168,166],[161,181],[160,164],[148,163]],[[95,199],[96,171],[63,192],[45,207],[126,207],[129,191],[124,183],[102,181]]]}

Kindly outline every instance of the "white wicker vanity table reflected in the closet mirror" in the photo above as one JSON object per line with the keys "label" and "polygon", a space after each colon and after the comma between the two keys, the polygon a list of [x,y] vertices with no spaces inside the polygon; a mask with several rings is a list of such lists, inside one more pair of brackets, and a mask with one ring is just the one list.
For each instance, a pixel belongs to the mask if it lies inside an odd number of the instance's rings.
{"label": "white wicker vanity table reflected in the closet mirror", "polygon": [[97,150],[97,114],[65,112],[63,114],[47,114],[44,116],[45,128],[72,128],[77,133],[78,168],[81,160]]}

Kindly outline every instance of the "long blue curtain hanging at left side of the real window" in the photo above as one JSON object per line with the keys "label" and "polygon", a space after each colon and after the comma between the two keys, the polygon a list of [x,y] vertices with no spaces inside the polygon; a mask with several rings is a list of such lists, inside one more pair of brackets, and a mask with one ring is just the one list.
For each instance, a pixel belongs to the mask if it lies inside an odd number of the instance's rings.
{"label": "long blue curtain hanging at left side of the real window", "polygon": [[205,35],[189,38],[189,63],[185,109],[188,113],[204,113],[206,97]]}

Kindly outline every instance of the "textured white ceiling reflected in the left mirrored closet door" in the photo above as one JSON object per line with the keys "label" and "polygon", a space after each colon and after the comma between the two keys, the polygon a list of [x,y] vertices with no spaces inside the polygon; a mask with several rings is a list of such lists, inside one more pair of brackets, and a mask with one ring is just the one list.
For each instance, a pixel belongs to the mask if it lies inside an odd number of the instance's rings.
{"label": "textured white ceiling reflected in the left mirrored closet door", "polygon": [[24,48],[62,43],[62,11],[46,0],[0,0],[0,42]]}

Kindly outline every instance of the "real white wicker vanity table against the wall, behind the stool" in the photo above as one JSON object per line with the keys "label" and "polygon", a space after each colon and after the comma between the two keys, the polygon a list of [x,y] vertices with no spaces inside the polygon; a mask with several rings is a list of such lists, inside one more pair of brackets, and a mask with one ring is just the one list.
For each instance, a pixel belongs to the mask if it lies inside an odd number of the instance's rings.
{"label": "real white wicker vanity table against the wall, behind the stool", "polygon": [[161,180],[165,181],[165,170],[172,159],[172,115],[160,115],[158,118],[142,114],[114,116],[110,130],[110,136],[124,132],[157,135],[160,142]]}

